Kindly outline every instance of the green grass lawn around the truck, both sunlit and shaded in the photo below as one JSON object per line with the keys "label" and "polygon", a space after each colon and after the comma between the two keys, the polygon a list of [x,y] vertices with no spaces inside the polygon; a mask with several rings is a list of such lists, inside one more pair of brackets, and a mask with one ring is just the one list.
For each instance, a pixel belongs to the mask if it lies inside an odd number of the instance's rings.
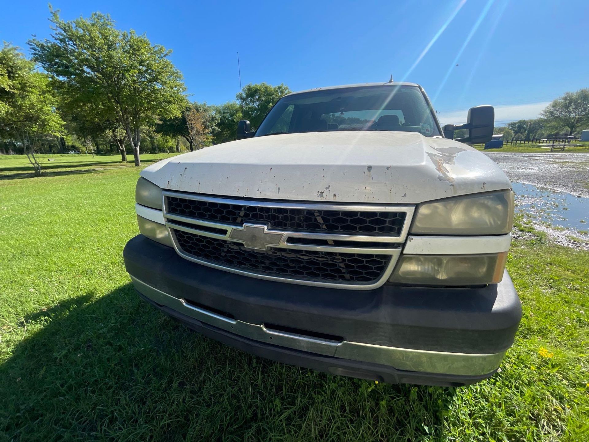
{"label": "green grass lawn around the truck, both sunlit and shaded", "polygon": [[[140,301],[121,256],[138,170],[117,160],[0,180],[0,440],[589,439],[589,252],[514,242],[524,318],[489,380],[337,377],[226,347]],[[25,173],[18,161],[0,174]]]}

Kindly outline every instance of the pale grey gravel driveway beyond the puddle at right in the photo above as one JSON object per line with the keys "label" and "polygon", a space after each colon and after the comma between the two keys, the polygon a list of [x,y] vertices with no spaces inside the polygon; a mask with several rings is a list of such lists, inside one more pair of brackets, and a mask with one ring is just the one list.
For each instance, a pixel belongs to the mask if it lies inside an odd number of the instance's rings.
{"label": "pale grey gravel driveway beyond the puddle at right", "polygon": [[485,152],[512,182],[589,197],[589,153]]}

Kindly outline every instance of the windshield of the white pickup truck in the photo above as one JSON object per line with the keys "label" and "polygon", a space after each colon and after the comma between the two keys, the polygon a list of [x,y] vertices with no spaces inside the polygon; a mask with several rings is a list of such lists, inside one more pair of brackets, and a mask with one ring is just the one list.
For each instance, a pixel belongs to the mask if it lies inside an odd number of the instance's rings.
{"label": "windshield of the white pickup truck", "polygon": [[299,132],[383,130],[439,136],[438,125],[416,86],[318,90],[281,98],[256,137]]}

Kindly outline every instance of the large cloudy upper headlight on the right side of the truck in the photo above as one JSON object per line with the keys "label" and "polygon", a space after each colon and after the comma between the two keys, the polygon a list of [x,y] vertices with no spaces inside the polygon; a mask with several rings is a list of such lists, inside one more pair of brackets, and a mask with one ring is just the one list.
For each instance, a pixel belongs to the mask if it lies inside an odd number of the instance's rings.
{"label": "large cloudy upper headlight on the right side of the truck", "polygon": [[500,235],[513,227],[511,190],[471,194],[419,204],[411,233],[446,235]]}

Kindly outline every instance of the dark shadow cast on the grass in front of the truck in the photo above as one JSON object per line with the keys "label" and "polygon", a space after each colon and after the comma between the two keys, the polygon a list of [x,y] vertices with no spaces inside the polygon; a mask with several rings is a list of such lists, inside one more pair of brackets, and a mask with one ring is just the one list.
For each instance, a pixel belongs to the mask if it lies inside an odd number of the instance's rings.
{"label": "dark shadow cast on the grass in front of the truck", "polygon": [[441,438],[451,389],[383,385],[204,338],[127,284],[24,318],[0,365],[6,440]]}

